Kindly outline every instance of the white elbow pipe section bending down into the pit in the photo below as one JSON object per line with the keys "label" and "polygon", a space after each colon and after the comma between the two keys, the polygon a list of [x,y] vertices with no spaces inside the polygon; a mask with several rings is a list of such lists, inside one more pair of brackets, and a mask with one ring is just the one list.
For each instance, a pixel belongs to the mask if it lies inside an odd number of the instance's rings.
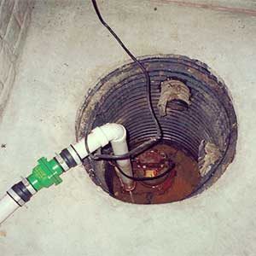
{"label": "white elbow pipe section bending down into the pit", "polygon": [[[126,142],[125,127],[119,124],[106,124],[100,127],[96,127],[90,132],[87,143],[90,152],[94,152],[96,149],[108,145],[108,143],[111,143],[113,154],[125,154],[129,151]],[[86,156],[88,156],[84,144],[84,138],[81,139],[79,143],[73,145],[73,148],[75,148],[81,159],[84,159]],[[125,174],[133,176],[130,159],[117,160],[117,164],[122,169],[122,171],[125,172]],[[134,182],[118,171],[117,173],[122,179],[122,182],[125,185],[125,189],[132,189]]]}

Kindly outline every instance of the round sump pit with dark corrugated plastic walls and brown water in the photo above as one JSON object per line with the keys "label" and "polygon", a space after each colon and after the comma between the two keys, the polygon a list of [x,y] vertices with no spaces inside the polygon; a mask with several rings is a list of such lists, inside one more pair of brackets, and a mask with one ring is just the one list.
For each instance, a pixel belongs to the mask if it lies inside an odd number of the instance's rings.
{"label": "round sump pit with dark corrugated plastic walls and brown water", "polygon": [[[163,138],[133,160],[137,177],[166,176],[137,182],[125,192],[113,166],[84,160],[91,179],[121,201],[156,204],[181,201],[201,193],[224,173],[236,153],[237,122],[230,94],[206,64],[181,55],[139,58],[151,79],[151,98]],[[76,121],[77,139],[84,131],[119,123],[134,148],[156,132],[146,101],[145,77],[132,62],[101,79],[89,91]],[[110,146],[102,148],[111,154]]]}

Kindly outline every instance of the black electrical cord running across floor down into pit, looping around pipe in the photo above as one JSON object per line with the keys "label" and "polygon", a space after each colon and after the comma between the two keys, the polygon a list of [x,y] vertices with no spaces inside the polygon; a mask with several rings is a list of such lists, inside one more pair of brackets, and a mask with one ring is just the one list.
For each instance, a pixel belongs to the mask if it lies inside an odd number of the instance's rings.
{"label": "black electrical cord running across floor down into pit, looping around pipe", "polygon": [[154,143],[158,142],[160,140],[160,138],[162,137],[162,131],[160,128],[160,124],[158,119],[155,116],[154,113],[154,109],[152,107],[152,102],[151,102],[151,93],[150,93],[150,77],[149,74],[147,72],[147,70],[145,69],[145,67],[143,67],[143,64],[140,63],[139,61],[137,61],[137,58],[131,54],[131,51],[129,49],[126,48],[125,44],[123,44],[123,42],[120,40],[120,38],[116,35],[115,32],[113,32],[112,28],[110,26],[108,26],[108,24],[105,22],[105,20],[103,20],[102,15],[100,13],[100,10],[97,7],[97,3],[96,0],[91,0],[94,9],[96,11],[96,15],[98,16],[99,20],[102,22],[102,25],[107,27],[108,31],[113,35],[113,37],[118,41],[119,45],[125,50],[125,52],[131,57],[131,59],[137,63],[137,65],[141,68],[141,70],[143,71],[143,74],[145,75],[146,78],[146,88],[147,88],[147,102],[148,102],[148,109],[149,112],[152,116],[152,119],[154,121],[155,127],[156,127],[156,135],[155,137],[151,137],[150,139],[148,139],[147,142],[142,143],[141,145],[137,146],[137,148],[131,149],[128,153],[126,154],[120,154],[120,155],[110,155],[110,154],[92,154],[90,152],[90,149],[88,147],[88,142],[87,142],[87,137],[89,135],[89,131],[85,131],[85,139],[84,139],[84,143],[85,143],[85,148],[86,151],[89,154],[90,159],[92,160],[125,160],[125,159],[129,159],[131,157],[136,156],[137,154],[142,153],[143,151],[145,151],[146,149],[150,148],[151,146],[154,145]]}

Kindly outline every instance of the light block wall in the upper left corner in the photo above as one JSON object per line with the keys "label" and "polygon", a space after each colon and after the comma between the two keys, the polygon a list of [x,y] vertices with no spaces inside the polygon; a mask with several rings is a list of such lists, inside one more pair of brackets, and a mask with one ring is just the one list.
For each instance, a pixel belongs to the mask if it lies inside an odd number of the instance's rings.
{"label": "light block wall in the upper left corner", "polygon": [[0,119],[12,90],[34,0],[0,0]]}

